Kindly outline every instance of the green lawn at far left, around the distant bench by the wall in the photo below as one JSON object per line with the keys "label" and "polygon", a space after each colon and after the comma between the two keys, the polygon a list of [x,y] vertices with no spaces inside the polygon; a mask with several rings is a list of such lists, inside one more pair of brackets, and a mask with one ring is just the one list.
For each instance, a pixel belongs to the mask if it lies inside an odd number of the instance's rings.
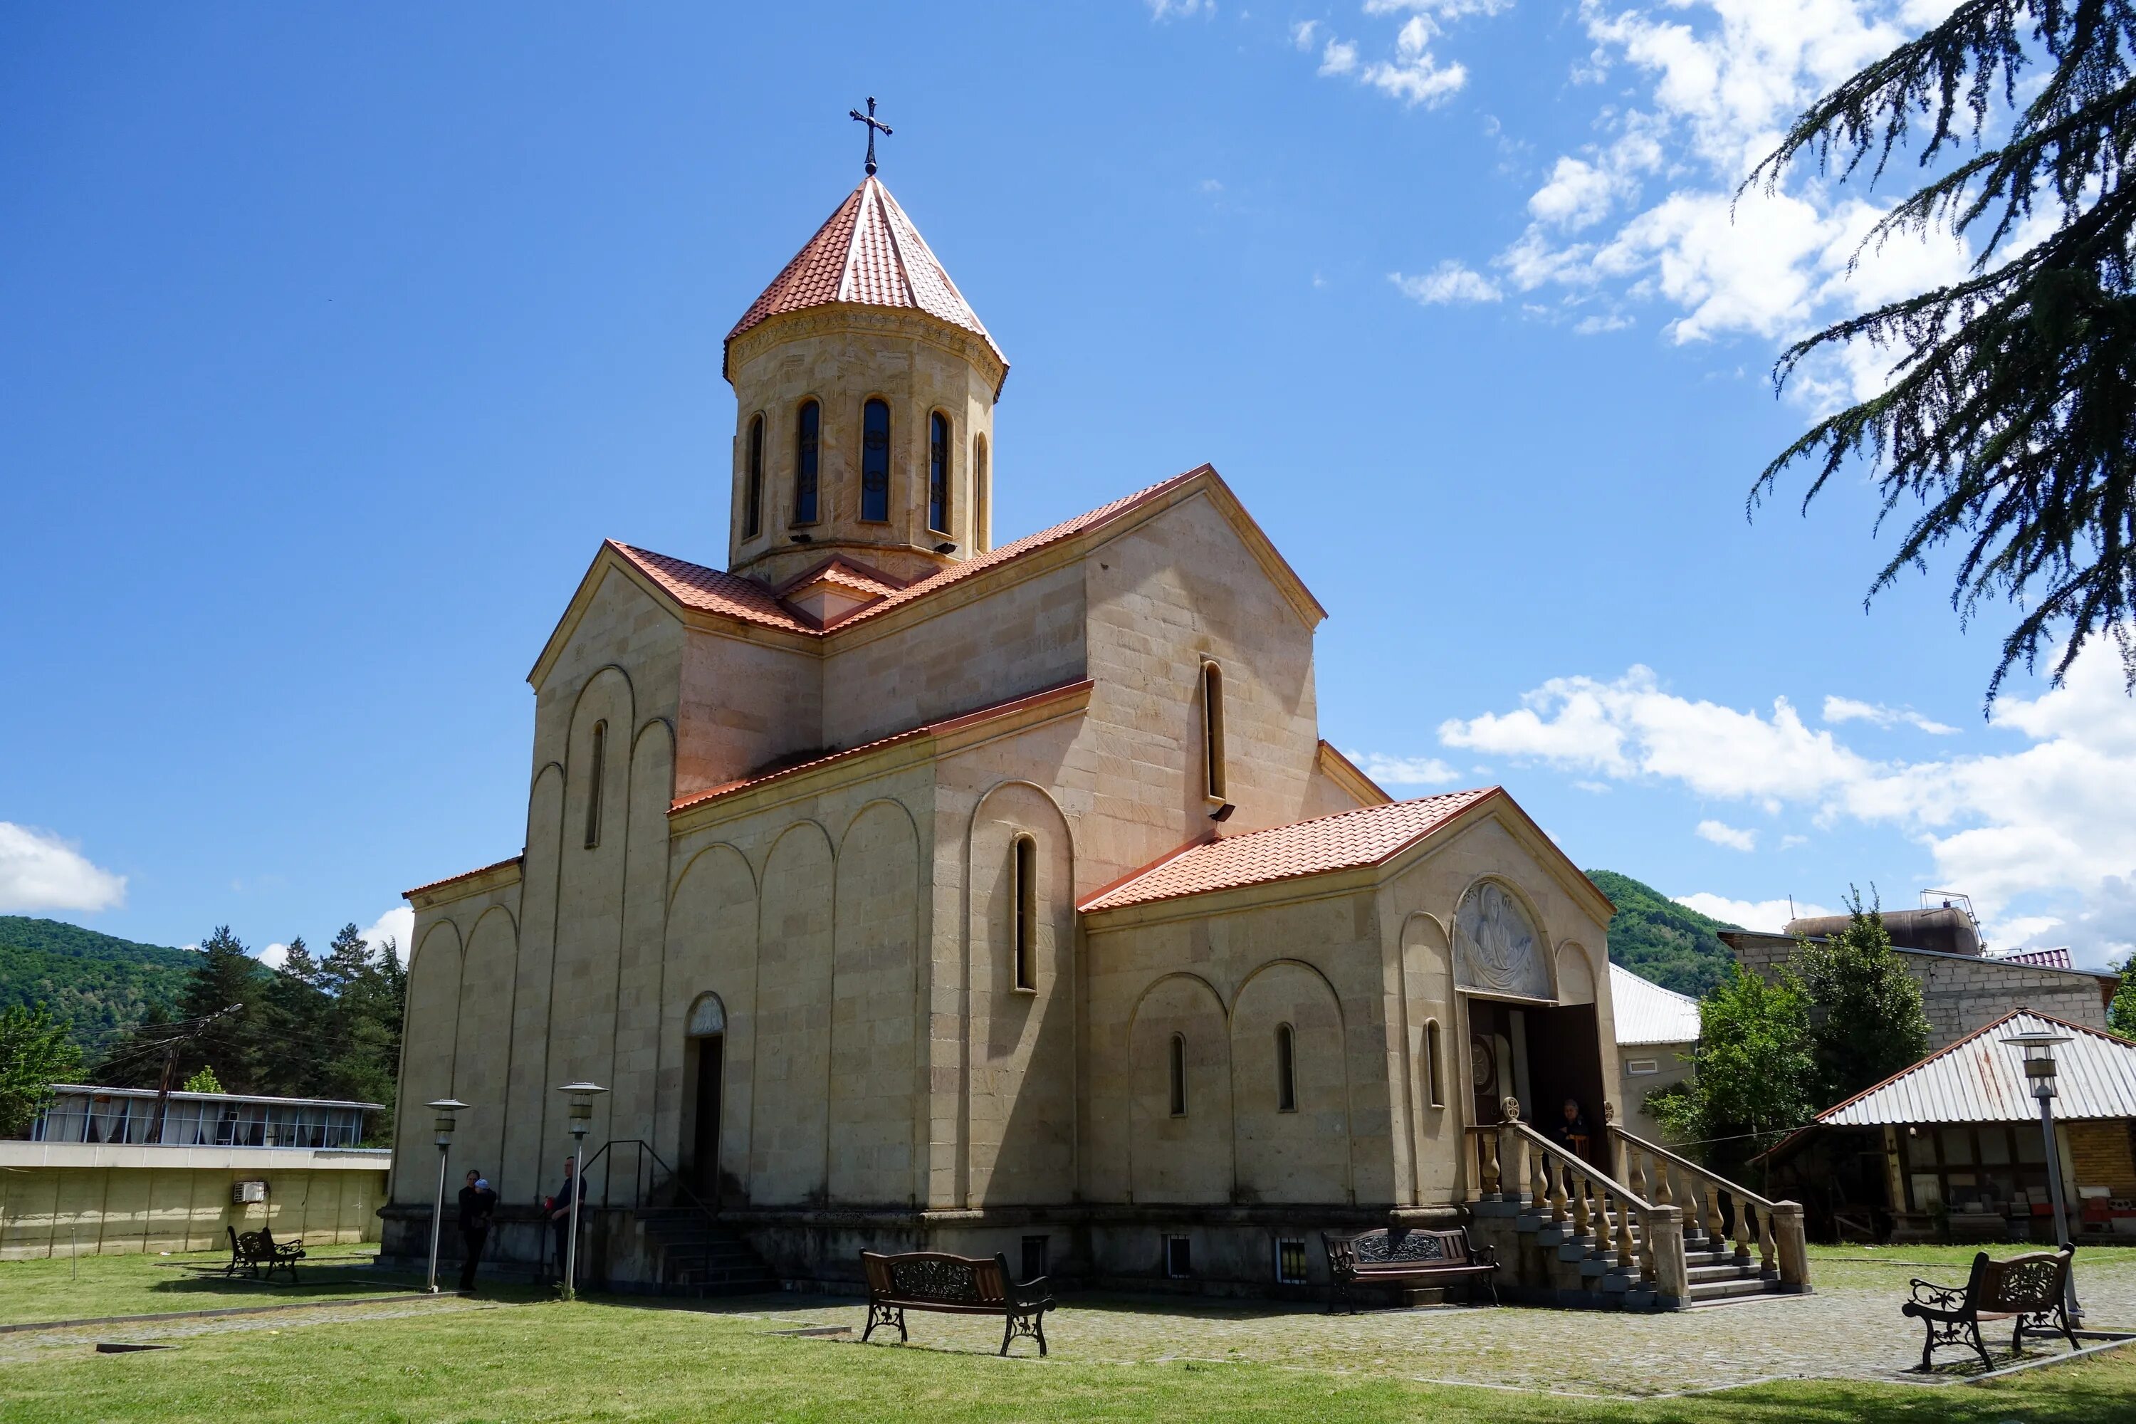
{"label": "green lawn at far left, around the distant bench by the wall", "polygon": [[229,1251],[0,1262],[0,1326],[382,1296],[423,1287],[421,1277],[361,1270],[376,1255],[376,1245],[314,1247],[297,1266],[295,1285],[282,1272],[276,1272],[273,1285],[220,1275],[231,1260]]}

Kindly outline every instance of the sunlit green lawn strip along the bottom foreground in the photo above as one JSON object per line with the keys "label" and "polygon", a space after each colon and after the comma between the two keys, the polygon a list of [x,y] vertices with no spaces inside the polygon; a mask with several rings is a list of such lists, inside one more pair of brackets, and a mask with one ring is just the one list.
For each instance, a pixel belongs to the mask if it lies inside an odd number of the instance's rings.
{"label": "sunlit green lawn strip along the bottom foreground", "polygon": [[[1301,1322],[1301,1328],[1305,1322]],[[1579,1317],[1566,1317],[1568,1347]],[[1788,1383],[1643,1405],[1258,1364],[995,1360],[767,1334],[760,1319],[590,1300],[267,1334],[179,1349],[47,1349],[0,1364],[0,1422],[77,1420],[1801,1420],[2115,1424],[2136,1358],[1991,1386]]]}

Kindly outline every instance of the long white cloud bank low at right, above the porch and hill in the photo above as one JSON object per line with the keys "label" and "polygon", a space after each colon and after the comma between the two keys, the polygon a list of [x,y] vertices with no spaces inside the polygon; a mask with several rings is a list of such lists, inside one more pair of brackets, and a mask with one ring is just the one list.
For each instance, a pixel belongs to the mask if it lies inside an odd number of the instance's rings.
{"label": "long white cloud bank low at right, above the porch and hill", "polygon": [[1993,724],[2016,751],[1878,760],[1811,730],[1786,698],[1771,713],[1664,692],[1634,666],[1615,681],[1559,677],[1521,707],[1450,719],[1440,741],[1546,762],[1585,777],[1677,781],[1711,801],[1820,824],[1895,826],[1935,860],[1937,882],[1995,922],[2014,901],[2055,914],[2091,956],[2136,948],[2136,707],[2113,640],[2087,647],[2068,685],[2004,698]]}

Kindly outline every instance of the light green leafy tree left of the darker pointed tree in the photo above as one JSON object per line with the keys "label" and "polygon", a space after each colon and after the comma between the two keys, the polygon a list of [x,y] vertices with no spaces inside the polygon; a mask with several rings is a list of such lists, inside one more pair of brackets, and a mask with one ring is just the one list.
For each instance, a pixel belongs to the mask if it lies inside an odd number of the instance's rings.
{"label": "light green leafy tree left of the darker pointed tree", "polygon": [[1809,1121],[1813,1072],[1801,986],[1737,965],[1698,1001],[1692,1076],[1649,1093],[1647,1110],[1679,1142],[1709,1144],[1711,1161],[1739,1164]]}

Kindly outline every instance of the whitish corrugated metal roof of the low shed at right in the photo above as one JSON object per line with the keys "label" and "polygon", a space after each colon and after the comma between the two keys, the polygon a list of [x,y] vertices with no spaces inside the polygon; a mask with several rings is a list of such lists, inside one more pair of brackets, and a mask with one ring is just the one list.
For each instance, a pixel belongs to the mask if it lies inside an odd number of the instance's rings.
{"label": "whitish corrugated metal roof of the low shed at right", "polygon": [[1818,1114],[1818,1121],[1831,1127],[2038,1121],[2040,1104],[2025,1085],[2025,1055],[2006,1042],[2019,1033],[2070,1035],[2055,1048],[2055,1117],[2136,1119],[2136,1044],[2021,1008]]}

